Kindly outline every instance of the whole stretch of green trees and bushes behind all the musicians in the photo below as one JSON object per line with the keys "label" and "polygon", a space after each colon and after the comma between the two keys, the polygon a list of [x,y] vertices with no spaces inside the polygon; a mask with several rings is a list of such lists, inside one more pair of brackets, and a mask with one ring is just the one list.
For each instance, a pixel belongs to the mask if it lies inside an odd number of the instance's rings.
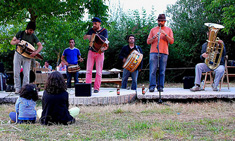
{"label": "whole stretch of green trees and bushes behind all the musicians", "polygon": [[[0,0],[0,62],[4,62],[9,70],[12,69],[12,50],[10,40],[19,30],[25,30],[26,20],[36,21],[35,34],[43,43],[41,51],[45,60],[49,60],[53,68],[60,62],[63,50],[69,46],[69,39],[75,39],[75,47],[79,48],[82,57],[87,57],[88,41],[83,40],[83,35],[91,28],[92,23],[84,19],[87,12],[88,19],[94,16],[102,19],[102,27],[108,30],[109,49],[105,53],[104,69],[122,68],[118,59],[121,48],[127,44],[125,37],[134,34],[136,44],[144,54],[144,69],[149,66],[149,50],[146,40],[151,28],[156,26],[154,9],[147,15],[143,9],[139,11],[124,12],[119,6],[117,9],[104,4],[105,0]],[[40,4],[39,4],[40,3]],[[226,46],[229,59],[234,58],[235,41],[235,8],[233,0],[178,0],[167,8],[167,24],[174,33],[174,44],[169,45],[169,57],[167,67],[194,67],[201,62],[199,55],[201,45],[206,42],[208,28],[206,22],[218,23],[225,26],[219,31],[220,37]],[[10,58],[10,59],[9,59]],[[9,63],[10,62],[10,63]],[[82,69],[86,67],[86,59],[80,64]],[[166,80],[181,80],[184,71],[170,72]],[[190,75],[194,75],[194,70]],[[148,79],[146,71],[140,72],[141,80]]]}

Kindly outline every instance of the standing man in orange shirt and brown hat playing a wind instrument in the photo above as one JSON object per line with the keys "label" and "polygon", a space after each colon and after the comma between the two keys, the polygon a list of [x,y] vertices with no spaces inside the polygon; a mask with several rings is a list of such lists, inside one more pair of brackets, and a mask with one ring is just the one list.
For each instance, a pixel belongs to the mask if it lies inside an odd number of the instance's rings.
{"label": "standing man in orange shirt and brown hat playing a wind instrument", "polygon": [[[165,26],[165,14],[159,14],[158,26],[151,29],[147,44],[151,44],[149,56],[149,92],[154,92],[156,87],[156,73],[159,66],[159,75],[157,89],[163,92],[165,81],[165,70],[168,59],[168,44],[174,43],[173,32],[171,28]],[[159,54],[159,56],[158,56]],[[159,65],[158,65],[159,64]]]}

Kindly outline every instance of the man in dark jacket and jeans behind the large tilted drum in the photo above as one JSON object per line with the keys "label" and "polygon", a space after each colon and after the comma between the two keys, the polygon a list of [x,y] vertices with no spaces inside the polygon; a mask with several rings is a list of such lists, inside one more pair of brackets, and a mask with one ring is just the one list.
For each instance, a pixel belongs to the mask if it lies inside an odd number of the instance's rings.
{"label": "man in dark jacket and jeans behind the large tilted drum", "polygon": [[[142,49],[140,46],[135,45],[135,36],[130,34],[126,38],[128,45],[122,47],[122,50],[119,54],[119,58],[122,60],[123,64],[126,62],[128,55],[133,51],[136,50],[143,54]],[[136,90],[137,88],[137,79],[138,79],[138,73],[141,71],[143,67],[143,60],[141,61],[141,64],[138,66],[138,68],[134,72],[130,72],[127,69],[123,69],[123,76],[122,76],[122,89],[126,89],[127,87],[127,80],[128,77],[131,75],[132,78],[132,84],[131,89]]]}

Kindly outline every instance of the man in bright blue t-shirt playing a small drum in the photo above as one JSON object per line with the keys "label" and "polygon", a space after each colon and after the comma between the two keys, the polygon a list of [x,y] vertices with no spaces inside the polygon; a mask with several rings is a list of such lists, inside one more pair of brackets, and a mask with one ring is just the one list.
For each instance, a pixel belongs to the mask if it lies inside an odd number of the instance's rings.
{"label": "man in bright blue t-shirt playing a small drum", "polygon": [[[74,77],[75,83],[78,83],[78,70],[76,72],[68,72],[68,67],[72,66],[72,65],[78,65],[78,61],[82,62],[83,58],[81,57],[81,53],[80,50],[76,47],[74,47],[75,45],[75,40],[73,38],[71,38],[69,40],[69,47],[66,48],[63,52],[63,55],[61,56],[61,61],[63,61],[65,63],[65,65],[67,66],[67,88],[71,88],[71,80],[72,80],[72,76]],[[67,59],[67,61],[65,60],[65,57]]]}

